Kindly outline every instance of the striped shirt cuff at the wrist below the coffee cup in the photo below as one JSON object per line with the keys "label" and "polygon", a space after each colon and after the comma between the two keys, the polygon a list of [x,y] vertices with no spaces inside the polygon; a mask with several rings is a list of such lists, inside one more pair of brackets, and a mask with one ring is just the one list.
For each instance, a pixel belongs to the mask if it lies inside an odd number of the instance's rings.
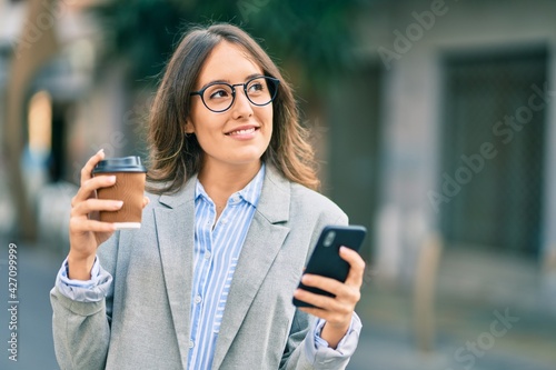
{"label": "striped shirt cuff at the wrist below the coffee cup", "polygon": [[68,259],[63,260],[56,279],[56,287],[66,297],[79,302],[98,302],[108,293],[112,276],[102,269],[98,258],[91,269],[90,280],[73,280],[68,277]]}

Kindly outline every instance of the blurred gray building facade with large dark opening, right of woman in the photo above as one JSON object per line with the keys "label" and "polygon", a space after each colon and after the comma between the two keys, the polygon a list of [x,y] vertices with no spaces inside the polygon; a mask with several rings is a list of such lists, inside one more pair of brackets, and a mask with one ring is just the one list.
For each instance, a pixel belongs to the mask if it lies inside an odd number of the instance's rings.
{"label": "blurred gray building facade with large dark opening, right of woman", "polygon": [[[545,0],[376,1],[361,12],[364,82],[349,83],[370,93],[336,97],[331,124],[357,123],[330,142],[368,149],[354,162],[344,146],[330,172],[350,183],[370,169],[380,277],[411,280],[438,236],[446,251],[537,260],[538,304],[556,312],[555,13]],[[357,214],[342,189],[334,197]]]}

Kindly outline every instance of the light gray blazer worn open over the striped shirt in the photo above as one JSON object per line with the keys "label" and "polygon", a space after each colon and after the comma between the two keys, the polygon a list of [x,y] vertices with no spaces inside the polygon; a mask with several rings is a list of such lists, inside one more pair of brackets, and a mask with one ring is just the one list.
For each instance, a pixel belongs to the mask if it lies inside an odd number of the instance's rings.
{"label": "light gray blazer worn open over the striped shirt", "polygon": [[[61,369],[186,369],[193,274],[195,183],[151,196],[139,230],[99,247],[113,281],[106,300],[73,301],[51,291],[53,337]],[[218,333],[212,369],[344,369],[349,358],[314,346],[315,318],[291,297],[326,224],[346,224],[330,200],[267,167]],[[357,346],[360,322],[344,344]],[[309,334],[307,334],[309,333]],[[306,341],[309,341],[306,343]]]}

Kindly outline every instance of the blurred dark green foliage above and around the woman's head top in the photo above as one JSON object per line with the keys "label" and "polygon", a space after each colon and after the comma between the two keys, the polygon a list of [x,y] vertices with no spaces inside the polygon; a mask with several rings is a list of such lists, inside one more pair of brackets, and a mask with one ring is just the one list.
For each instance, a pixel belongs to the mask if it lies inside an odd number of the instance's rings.
{"label": "blurred dark green foliage above and around the woman's head top", "polygon": [[139,82],[157,76],[187,24],[230,22],[256,37],[275,60],[295,66],[296,84],[322,87],[349,67],[355,0],[112,0],[93,9],[106,60],[123,58]]}

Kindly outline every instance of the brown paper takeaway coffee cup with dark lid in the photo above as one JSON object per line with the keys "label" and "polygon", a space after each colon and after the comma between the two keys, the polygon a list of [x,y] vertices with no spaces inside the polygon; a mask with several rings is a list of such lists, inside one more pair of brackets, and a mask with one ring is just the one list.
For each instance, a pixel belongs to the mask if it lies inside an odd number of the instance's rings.
{"label": "brown paper takeaway coffee cup with dark lid", "polygon": [[92,176],[116,176],[116,183],[97,191],[99,199],[122,200],[117,211],[101,211],[100,221],[113,222],[117,229],[141,227],[142,199],[147,169],[139,157],[109,158],[100,161]]}

